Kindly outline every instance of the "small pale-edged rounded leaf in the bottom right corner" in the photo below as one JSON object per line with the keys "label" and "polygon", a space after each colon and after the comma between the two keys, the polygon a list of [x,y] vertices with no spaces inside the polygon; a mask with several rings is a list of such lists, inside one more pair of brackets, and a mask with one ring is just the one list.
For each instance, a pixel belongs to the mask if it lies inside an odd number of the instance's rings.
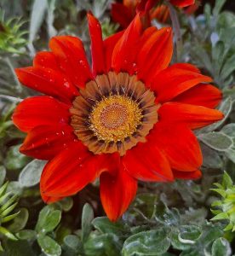
{"label": "small pale-edged rounded leaf in the bottom right corner", "polygon": [[211,248],[212,256],[230,256],[232,251],[228,241],[225,238],[217,238]]}

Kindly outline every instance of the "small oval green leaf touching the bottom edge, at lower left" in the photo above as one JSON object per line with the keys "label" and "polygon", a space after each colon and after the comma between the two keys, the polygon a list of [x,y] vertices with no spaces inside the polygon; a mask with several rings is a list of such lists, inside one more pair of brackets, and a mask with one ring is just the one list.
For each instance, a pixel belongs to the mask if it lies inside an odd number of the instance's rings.
{"label": "small oval green leaf touching the bottom edge, at lower left", "polygon": [[43,253],[48,256],[60,256],[61,247],[49,236],[38,236],[37,242],[42,248]]}

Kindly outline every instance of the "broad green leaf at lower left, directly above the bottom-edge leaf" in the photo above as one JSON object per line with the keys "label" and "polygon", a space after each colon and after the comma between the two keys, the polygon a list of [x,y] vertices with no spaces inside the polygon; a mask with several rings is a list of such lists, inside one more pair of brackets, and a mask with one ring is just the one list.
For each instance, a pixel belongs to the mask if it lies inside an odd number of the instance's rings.
{"label": "broad green leaf at lower left, directly above the bottom-edge leaf", "polygon": [[46,234],[49,231],[54,230],[60,223],[61,212],[60,210],[53,210],[51,207],[43,207],[43,210],[39,213],[37,220],[36,231],[38,233]]}

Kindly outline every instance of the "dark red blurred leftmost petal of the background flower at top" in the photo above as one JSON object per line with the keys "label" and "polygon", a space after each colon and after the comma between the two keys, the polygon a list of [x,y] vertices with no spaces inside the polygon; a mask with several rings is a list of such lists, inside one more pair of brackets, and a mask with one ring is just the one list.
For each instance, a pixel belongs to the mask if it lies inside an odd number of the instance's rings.
{"label": "dark red blurred leftmost petal of the background flower at top", "polygon": [[134,18],[131,9],[123,5],[123,3],[112,3],[111,9],[112,20],[120,24],[123,28],[129,26],[129,23]]}

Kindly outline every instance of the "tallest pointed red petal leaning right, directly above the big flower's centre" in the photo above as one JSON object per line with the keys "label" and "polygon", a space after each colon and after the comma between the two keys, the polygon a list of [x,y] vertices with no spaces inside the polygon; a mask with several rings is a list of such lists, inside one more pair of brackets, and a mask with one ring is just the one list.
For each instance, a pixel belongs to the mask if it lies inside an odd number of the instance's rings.
{"label": "tallest pointed red petal leaning right, directly above the big flower's centre", "polygon": [[140,16],[136,15],[115,45],[112,53],[112,68],[116,72],[135,73],[136,49],[142,32]]}

